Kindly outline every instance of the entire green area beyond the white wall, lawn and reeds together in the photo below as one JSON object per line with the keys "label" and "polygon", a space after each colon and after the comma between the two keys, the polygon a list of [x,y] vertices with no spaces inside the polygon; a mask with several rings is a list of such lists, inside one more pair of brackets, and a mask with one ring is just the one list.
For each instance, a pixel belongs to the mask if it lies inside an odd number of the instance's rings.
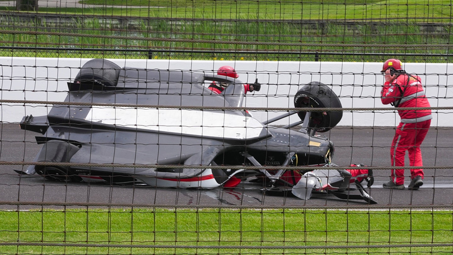
{"label": "entire green area beyond the white wall, lawn and reeds together", "polygon": [[[47,8],[40,7],[40,13],[99,15],[96,18],[71,16],[70,27],[47,24],[46,19],[29,21],[20,26],[21,20],[0,25],[0,30],[46,31],[73,33],[79,36],[58,34],[29,35],[1,34],[1,46],[63,47],[62,51],[0,51],[2,56],[20,57],[74,57],[74,58],[135,58],[146,59],[146,52],[83,52],[70,48],[110,49],[210,49],[231,51],[293,51],[293,52],[334,52],[334,53],[392,53],[405,62],[451,62],[453,59],[439,57],[414,57],[404,54],[451,54],[448,48],[411,47],[351,47],[352,44],[450,44],[452,6],[448,0],[313,0],[313,1],[259,1],[259,0],[86,0],[91,5],[143,5],[144,8]],[[151,6],[151,7],[147,7]],[[154,8],[152,6],[159,6]],[[118,15],[131,23],[127,27],[110,27],[103,17]],[[148,19],[148,18],[162,19]],[[417,17],[417,20],[410,18]],[[115,17],[116,18],[116,17]],[[167,18],[178,19],[169,21]],[[199,20],[190,20],[197,18]],[[444,19],[437,19],[444,18]],[[167,20],[166,20],[167,19]],[[251,19],[251,20],[250,20]],[[259,21],[255,21],[259,19]],[[329,19],[337,21],[329,21]],[[347,20],[378,21],[362,25],[344,25]],[[389,20],[391,19],[391,20]],[[115,20],[115,19],[113,19]],[[313,20],[299,23],[300,20]],[[400,23],[398,23],[400,22]],[[421,30],[419,23],[447,22],[443,31],[430,33]],[[88,37],[91,35],[92,37]],[[101,38],[102,36],[125,36],[128,39]],[[206,42],[152,41],[148,38],[197,39]],[[215,41],[214,41],[215,40]],[[212,41],[212,42],[208,42]],[[217,43],[215,43],[217,42]],[[222,44],[221,42],[228,42]],[[257,42],[257,44],[246,44]],[[265,45],[259,45],[265,43]],[[301,44],[296,46],[282,43]],[[318,44],[305,46],[303,44]],[[340,44],[332,47],[327,44]],[[155,54],[155,59],[217,59],[217,60],[286,60],[312,61],[308,54]],[[384,61],[386,57],[323,56],[323,61]]]}

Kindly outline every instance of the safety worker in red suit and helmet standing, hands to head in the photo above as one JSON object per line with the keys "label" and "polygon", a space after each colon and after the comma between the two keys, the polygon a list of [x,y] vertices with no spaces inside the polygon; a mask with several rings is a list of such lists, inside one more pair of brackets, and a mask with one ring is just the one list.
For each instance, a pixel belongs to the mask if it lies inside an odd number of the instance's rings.
{"label": "safety worker in red suit and helmet standing, hands to head", "polygon": [[[420,145],[431,125],[431,110],[400,110],[400,108],[430,107],[422,87],[421,78],[408,74],[398,59],[384,62],[381,73],[385,83],[381,90],[383,104],[395,106],[400,115],[400,124],[390,147],[392,167],[403,167],[406,151],[409,153],[409,164],[423,166]],[[391,179],[384,183],[384,188],[404,189],[404,169],[392,169]],[[410,189],[419,189],[423,185],[423,169],[410,169]]]}

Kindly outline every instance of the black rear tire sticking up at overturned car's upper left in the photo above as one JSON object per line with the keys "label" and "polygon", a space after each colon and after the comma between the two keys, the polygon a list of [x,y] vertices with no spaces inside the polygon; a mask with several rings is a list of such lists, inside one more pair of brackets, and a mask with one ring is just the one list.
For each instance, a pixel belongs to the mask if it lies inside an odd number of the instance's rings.
{"label": "black rear tire sticking up at overturned car's upper left", "polygon": [[75,78],[75,83],[85,86],[116,87],[120,66],[106,59],[91,59],[85,63]]}

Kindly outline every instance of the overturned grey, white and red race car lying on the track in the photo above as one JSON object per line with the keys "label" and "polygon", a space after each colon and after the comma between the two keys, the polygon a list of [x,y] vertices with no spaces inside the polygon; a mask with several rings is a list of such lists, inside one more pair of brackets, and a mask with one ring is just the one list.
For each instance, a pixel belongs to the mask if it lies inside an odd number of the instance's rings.
{"label": "overturned grey, white and red race car lying on the track", "polygon": [[[207,81],[229,85],[216,94],[206,88]],[[333,142],[315,133],[335,127],[342,112],[308,111],[341,108],[337,95],[323,83],[308,83],[295,94],[294,107],[307,111],[287,112],[265,122],[244,110],[219,109],[243,106],[244,83],[212,73],[120,68],[106,59],[92,59],[67,86],[67,105],[53,105],[47,116],[25,116],[20,127],[43,135],[36,137],[42,148],[34,162],[72,164],[32,165],[15,170],[19,174],[37,173],[53,181],[186,188],[235,187],[248,177],[263,177],[267,180],[263,190],[269,194],[291,193],[309,199],[312,192],[325,192],[376,203],[361,186],[362,180],[371,186],[371,170],[326,169],[336,166],[331,162]],[[182,108],[169,107],[175,105]],[[298,114],[300,121],[285,127],[270,125],[292,114]],[[93,167],[87,163],[154,167]],[[174,168],[155,167],[159,165]],[[256,170],[266,165],[317,169]],[[344,192],[352,188],[351,183],[359,194]]]}

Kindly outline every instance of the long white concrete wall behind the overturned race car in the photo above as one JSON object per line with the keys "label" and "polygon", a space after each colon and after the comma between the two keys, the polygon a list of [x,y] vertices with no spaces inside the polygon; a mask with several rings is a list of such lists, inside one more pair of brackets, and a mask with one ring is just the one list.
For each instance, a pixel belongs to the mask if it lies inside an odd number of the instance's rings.
{"label": "long white concrete wall behind the overturned race car", "polygon": [[[89,59],[53,58],[0,58],[0,98],[17,100],[63,101],[67,95],[67,82],[75,78]],[[243,82],[262,83],[261,90],[246,96],[246,107],[294,107],[294,94],[311,81],[332,84],[333,91],[346,108],[391,107],[382,105],[379,98],[383,76],[382,63],[362,62],[286,62],[286,61],[201,61],[201,60],[145,60],[110,59],[120,67],[171,69],[213,72],[222,65],[231,65]],[[408,63],[405,70],[419,74],[426,85],[426,96],[433,107],[453,105],[452,64]],[[291,85],[290,85],[291,84]],[[50,105],[21,105],[2,103],[0,119],[3,123],[19,122],[25,115],[46,115]],[[433,114],[432,126],[453,127],[451,110]],[[280,113],[252,112],[259,121]],[[299,119],[292,116],[276,124],[288,124]],[[385,112],[343,113],[339,126],[394,126],[398,114]]]}

